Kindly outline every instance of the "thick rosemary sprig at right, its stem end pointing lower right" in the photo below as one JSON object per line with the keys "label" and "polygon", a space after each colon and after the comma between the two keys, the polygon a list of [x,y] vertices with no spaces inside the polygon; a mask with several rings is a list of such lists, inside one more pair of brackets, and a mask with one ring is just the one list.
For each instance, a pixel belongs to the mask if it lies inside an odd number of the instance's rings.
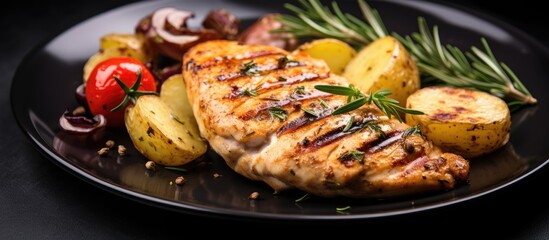
{"label": "thick rosemary sprig at right, its stem end pointing lower right", "polygon": [[535,104],[528,89],[513,71],[498,62],[486,39],[481,38],[484,51],[471,47],[471,52],[462,52],[455,46],[444,46],[438,35],[438,27],[433,31],[424,18],[418,18],[419,33],[401,37],[393,33],[412,54],[421,73],[423,85],[450,85],[460,88],[473,88],[491,93],[507,100],[511,110],[523,104]]}

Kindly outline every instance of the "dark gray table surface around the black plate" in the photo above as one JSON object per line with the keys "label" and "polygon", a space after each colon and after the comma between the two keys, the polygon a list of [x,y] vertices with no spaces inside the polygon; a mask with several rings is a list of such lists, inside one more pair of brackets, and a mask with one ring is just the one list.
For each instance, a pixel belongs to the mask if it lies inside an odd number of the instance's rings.
{"label": "dark gray table surface around the black plate", "polygon": [[[285,230],[290,228],[299,230],[294,232],[296,236],[335,233],[341,237],[358,234],[361,238],[373,234],[453,238],[482,234],[490,239],[549,238],[546,170],[488,196],[437,211],[330,224],[327,228],[299,222],[272,224],[188,216],[143,205],[79,180],[37,152],[17,126],[9,99],[12,77],[37,44],[129,2],[134,1],[54,0],[0,8],[0,239],[163,239],[231,233],[243,238],[263,237],[265,233],[291,237],[294,234]],[[548,17],[539,7],[473,2],[454,1],[504,19],[549,45],[549,33],[543,26]],[[230,224],[237,225],[229,231],[217,230]],[[252,229],[268,231],[254,235]]]}

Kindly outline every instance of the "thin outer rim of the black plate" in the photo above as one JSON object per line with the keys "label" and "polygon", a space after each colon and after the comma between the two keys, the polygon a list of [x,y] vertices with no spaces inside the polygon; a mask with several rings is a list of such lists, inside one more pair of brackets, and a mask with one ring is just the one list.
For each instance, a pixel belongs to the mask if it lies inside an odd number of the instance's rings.
{"label": "thin outer rim of the black plate", "polygon": [[[379,0],[369,0],[369,2],[378,2]],[[397,0],[389,0],[388,2],[400,2]],[[470,9],[465,6],[457,5],[454,3],[439,3],[435,1],[428,1],[428,4],[437,4],[441,6],[446,6],[452,9],[457,9],[458,11],[467,11],[475,16],[481,17],[483,21],[487,21],[490,23],[495,24],[499,28],[510,32],[513,36],[520,36],[525,40],[525,42],[528,45],[532,44],[532,47],[536,50],[542,50],[543,55],[549,57],[549,47],[546,47],[543,45],[537,38],[533,37],[532,35],[524,32],[523,30],[515,27],[514,25],[511,25],[507,22],[502,21],[501,19],[488,15],[486,13],[483,13],[481,11]],[[204,216],[204,217],[215,217],[215,218],[231,218],[234,219],[235,216],[241,217],[244,220],[365,220],[365,219],[374,219],[374,218],[386,218],[386,217],[393,217],[393,216],[400,216],[400,215],[407,215],[411,213],[416,212],[423,212],[423,211],[429,211],[433,209],[438,209],[450,205],[456,205],[461,204],[463,202],[469,202],[473,199],[479,199],[481,197],[484,197],[486,195],[492,194],[494,192],[499,192],[501,189],[516,185],[518,182],[524,182],[527,178],[531,178],[532,175],[540,174],[544,168],[547,167],[549,164],[549,158],[545,159],[543,162],[541,162],[538,166],[530,169],[529,171],[526,171],[519,176],[512,178],[510,180],[507,180],[505,182],[502,182],[499,184],[499,186],[491,187],[487,190],[481,191],[479,193],[473,193],[469,196],[462,196],[458,199],[453,199],[450,201],[443,201],[443,202],[435,202],[430,203],[426,206],[421,207],[414,207],[409,209],[402,209],[402,210],[392,210],[390,212],[376,212],[376,213],[353,213],[349,215],[339,214],[339,215],[333,215],[333,214],[287,214],[287,213],[264,213],[264,212],[249,212],[249,211],[243,211],[243,210],[234,210],[234,209],[222,209],[221,207],[200,207],[196,206],[196,204],[193,203],[182,203],[182,202],[175,202],[170,200],[161,199],[158,197],[150,196],[144,193],[135,192],[129,189],[125,189],[123,187],[117,186],[115,184],[106,182],[102,180],[101,178],[94,176],[90,173],[87,173],[83,170],[81,170],[78,166],[75,166],[68,162],[67,160],[63,159],[63,157],[57,155],[56,150],[52,149],[49,144],[40,136],[38,130],[36,127],[33,127],[32,121],[30,118],[25,118],[25,115],[22,111],[17,109],[17,97],[15,96],[14,89],[16,88],[17,79],[21,79],[20,77],[22,75],[23,68],[25,68],[31,61],[33,57],[36,57],[36,54],[44,49],[45,46],[47,46],[49,43],[51,43],[53,40],[55,40],[57,37],[62,35],[63,33],[73,29],[77,28],[78,26],[81,26],[84,23],[91,22],[95,18],[99,18],[101,16],[107,15],[109,13],[115,13],[117,11],[120,11],[124,8],[127,8],[129,6],[134,5],[142,5],[143,2],[135,2],[130,3],[126,5],[122,5],[113,9],[110,9],[108,11],[102,12],[100,14],[97,14],[95,16],[92,16],[88,19],[85,19],[83,21],[77,22],[74,25],[61,30],[59,32],[53,33],[50,37],[46,37],[44,40],[42,40],[39,44],[35,45],[31,51],[26,53],[26,55],[23,57],[22,61],[17,65],[17,69],[15,71],[15,74],[13,75],[12,82],[10,85],[10,107],[12,115],[14,116],[17,125],[19,126],[20,130],[24,133],[26,136],[26,139],[28,139],[33,146],[34,149],[38,150],[38,152],[41,153],[42,156],[46,157],[48,160],[53,162],[55,165],[60,166],[65,171],[69,172],[71,175],[76,176],[78,179],[83,180],[84,182],[87,182],[93,186],[99,187],[100,189],[105,190],[106,192],[110,192],[111,194],[123,197],[125,199],[131,199],[133,201],[144,203],[150,206],[164,208],[171,211],[176,212],[182,212],[187,214],[193,214],[198,216]],[[150,4],[150,3],[149,3]],[[21,105],[21,103],[19,103]],[[28,109],[26,109],[28,110]],[[30,127],[30,128],[29,128]]]}

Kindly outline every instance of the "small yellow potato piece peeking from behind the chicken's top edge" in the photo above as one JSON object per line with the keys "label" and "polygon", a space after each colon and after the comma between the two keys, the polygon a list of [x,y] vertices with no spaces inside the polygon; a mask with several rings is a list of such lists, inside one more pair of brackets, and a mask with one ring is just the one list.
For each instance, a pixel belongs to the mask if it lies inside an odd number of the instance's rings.
{"label": "small yellow potato piece peeking from behind the chicken's top edge", "polygon": [[341,75],[345,66],[356,56],[356,50],[349,44],[333,39],[323,38],[299,46],[294,53],[307,53],[313,58],[324,60],[332,72]]}

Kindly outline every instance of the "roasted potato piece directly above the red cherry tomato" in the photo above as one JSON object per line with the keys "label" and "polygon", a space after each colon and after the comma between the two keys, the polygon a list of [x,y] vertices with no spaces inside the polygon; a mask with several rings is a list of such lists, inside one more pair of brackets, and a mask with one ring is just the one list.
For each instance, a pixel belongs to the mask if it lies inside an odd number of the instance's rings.
{"label": "roasted potato piece directly above the red cherry tomato", "polygon": [[141,35],[110,33],[100,39],[99,51],[91,56],[84,65],[82,78],[88,80],[95,66],[112,57],[128,56],[143,63],[152,59],[153,53]]}

